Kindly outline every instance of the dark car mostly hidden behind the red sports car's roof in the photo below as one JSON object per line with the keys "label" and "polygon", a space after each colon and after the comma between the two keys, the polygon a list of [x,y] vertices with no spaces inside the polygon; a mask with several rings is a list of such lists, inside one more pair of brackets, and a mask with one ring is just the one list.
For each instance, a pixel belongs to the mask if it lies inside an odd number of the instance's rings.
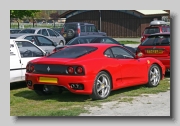
{"label": "dark car mostly hidden behind the red sports car's roof", "polygon": [[[109,44],[118,44],[118,45],[123,45],[120,44],[118,41],[114,40],[111,37],[108,36],[80,36],[80,37],[75,37],[74,39],[71,39],[65,46],[70,46],[70,45],[75,45],[75,44],[83,44],[83,43],[109,43]],[[56,46],[53,52],[62,49],[65,46]],[[131,52],[134,54],[136,53],[136,49],[130,46],[124,46],[125,48],[129,49]]]}

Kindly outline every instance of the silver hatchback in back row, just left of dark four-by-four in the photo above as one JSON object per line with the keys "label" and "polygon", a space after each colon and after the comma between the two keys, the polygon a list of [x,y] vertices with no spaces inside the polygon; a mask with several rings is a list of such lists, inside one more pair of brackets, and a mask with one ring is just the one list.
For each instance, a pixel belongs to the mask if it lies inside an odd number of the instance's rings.
{"label": "silver hatchback in back row, just left of dark four-by-four", "polygon": [[56,42],[58,45],[65,45],[66,41],[62,35],[50,28],[27,28],[19,33],[41,34]]}

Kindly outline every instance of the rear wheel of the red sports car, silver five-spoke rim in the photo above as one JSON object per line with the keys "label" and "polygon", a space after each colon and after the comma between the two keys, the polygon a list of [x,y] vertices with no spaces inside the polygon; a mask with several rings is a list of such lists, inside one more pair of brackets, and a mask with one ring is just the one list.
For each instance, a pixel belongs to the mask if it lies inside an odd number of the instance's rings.
{"label": "rear wheel of the red sports car, silver five-spoke rim", "polygon": [[111,86],[112,84],[109,74],[104,71],[99,72],[95,78],[92,94],[90,97],[93,100],[106,99],[110,95]]}

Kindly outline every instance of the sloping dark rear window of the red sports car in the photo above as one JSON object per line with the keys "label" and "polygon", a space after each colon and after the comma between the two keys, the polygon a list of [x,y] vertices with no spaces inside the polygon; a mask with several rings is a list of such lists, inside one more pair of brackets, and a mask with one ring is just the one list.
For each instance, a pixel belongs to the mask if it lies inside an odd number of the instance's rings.
{"label": "sloping dark rear window of the red sports car", "polygon": [[56,53],[53,53],[48,58],[78,58],[95,51],[96,47],[91,46],[73,46],[64,48]]}

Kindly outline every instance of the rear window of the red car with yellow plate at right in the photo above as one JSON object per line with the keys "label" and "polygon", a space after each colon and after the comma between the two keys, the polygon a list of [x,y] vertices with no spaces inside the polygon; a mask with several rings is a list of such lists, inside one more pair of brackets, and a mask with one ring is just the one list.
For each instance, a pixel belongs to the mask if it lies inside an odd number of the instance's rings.
{"label": "rear window of the red car with yellow plate at right", "polygon": [[142,46],[165,46],[170,45],[170,35],[153,35],[149,36],[143,43]]}

